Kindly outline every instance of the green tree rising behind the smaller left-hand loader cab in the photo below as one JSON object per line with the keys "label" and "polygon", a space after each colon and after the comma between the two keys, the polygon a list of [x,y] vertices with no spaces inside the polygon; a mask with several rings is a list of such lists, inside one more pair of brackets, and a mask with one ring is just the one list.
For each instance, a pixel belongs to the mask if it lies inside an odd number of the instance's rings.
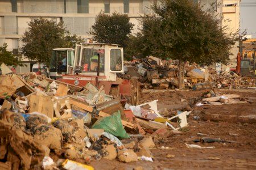
{"label": "green tree rising behind the smaller left-hand loader cab", "polygon": [[74,48],[81,37],[71,35],[63,22],[44,18],[31,19],[24,32],[22,54],[30,61],[49,64],[53,48]]}

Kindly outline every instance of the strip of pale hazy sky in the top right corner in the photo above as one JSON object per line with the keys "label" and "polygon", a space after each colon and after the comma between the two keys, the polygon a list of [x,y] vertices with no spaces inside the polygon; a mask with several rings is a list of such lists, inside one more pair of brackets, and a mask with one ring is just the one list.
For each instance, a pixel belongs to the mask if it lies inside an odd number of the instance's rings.
{"label": "strip of pale hazy sky in the top right corner", "polygon": [[247,35],[256,39],[256,0],[241,0],[240,24],[241,31],[247,29]]}

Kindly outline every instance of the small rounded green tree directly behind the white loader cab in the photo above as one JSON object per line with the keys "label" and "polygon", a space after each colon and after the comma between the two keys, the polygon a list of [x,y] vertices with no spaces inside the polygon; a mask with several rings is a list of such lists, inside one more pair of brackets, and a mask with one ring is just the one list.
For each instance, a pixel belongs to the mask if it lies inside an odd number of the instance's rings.
{"label": "small rounded green tree directly behind the white loader cab", "polygon": [[100,12],[89,33],[97,42],[119,44],[125,47],[133,26],[127,14],[114,12],[109,15]]}

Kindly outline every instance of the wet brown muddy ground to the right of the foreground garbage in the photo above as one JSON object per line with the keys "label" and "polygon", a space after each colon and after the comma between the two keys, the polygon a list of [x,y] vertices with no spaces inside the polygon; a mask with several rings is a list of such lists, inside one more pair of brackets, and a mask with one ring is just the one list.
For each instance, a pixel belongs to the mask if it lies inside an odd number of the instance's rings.
{"label": "wet brown muddy ground to the right of the foreground garbage", "polygon": [[[158,109],[166,107],[170,113],[182,110],[208,90],[203,91],[143,91],[141,103],[158,99]],[[220,91],[220,90],[217,90]],[[256,90],[221,90],[239,94],[245,98],[256,97]],[[187,101],[181,102],[181,99]],[[170,117],[172,115],[170,114]],[[199,120],[196,120],[199,119]],[[181,133],[170,133],[166,139],[156,142],[151,150],[154,162],[138,161],[120,163],[117,160],[92,161],[95,169],[256,169],[256,103],[204,105],[193,107],[188,116],[189,126]],[[171,131],[171,129],[170,129]],[[222,143],[195,143],[194,139],[224,139]],[[214,148],[187,148],[187,144],[214,146]],[[174,158],[167,158],[167,154]]]}

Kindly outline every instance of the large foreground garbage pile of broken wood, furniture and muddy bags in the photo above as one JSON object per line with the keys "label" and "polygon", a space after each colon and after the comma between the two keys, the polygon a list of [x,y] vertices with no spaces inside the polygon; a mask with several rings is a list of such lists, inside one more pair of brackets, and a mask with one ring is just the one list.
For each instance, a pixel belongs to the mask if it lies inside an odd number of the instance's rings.
{"label": "large foreground garbage pile of broken wood, furniture and muddy bags", "polygon": [[187,126],[189,114],[163,118],[156,102],[122,105],[91,83],[1,75],[0,168],[93,169],[90,161],[102,158],[153,162],[154,141]]}

